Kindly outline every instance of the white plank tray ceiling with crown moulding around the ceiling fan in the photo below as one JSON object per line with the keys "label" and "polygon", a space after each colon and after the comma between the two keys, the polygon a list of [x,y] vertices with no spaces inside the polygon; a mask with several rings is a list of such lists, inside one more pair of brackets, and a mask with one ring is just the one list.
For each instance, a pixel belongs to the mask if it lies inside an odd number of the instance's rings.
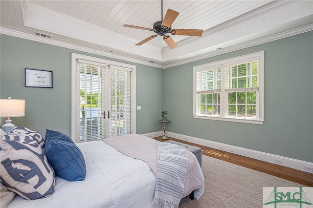
{"label": "white plank tray ceiling with crown moulding around the ceiling fan", "polygon": [[312,0],[163,0],[163,17],[168,8],[179,12],[172,28],[204,31],[202,37],[171,35],[178,47],[169,49],[159,36],[135,46],[155,33],[122,26],[153,28],[161,20],[161,0],[1,0],[0,4],[3,34],[162,68],[313,30]]}

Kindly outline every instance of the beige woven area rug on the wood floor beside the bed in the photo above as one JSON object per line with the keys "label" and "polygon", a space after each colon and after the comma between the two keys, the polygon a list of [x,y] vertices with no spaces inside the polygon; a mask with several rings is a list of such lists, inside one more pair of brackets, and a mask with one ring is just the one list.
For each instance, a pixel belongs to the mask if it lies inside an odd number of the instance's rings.
{"label": "beige woven area rug on the wood floor beside the bed", "polygon": [[263,187],[303,187],[266,173],[202,155],[205,190],[199,200],[181,199],[179,208],[262,208]]}

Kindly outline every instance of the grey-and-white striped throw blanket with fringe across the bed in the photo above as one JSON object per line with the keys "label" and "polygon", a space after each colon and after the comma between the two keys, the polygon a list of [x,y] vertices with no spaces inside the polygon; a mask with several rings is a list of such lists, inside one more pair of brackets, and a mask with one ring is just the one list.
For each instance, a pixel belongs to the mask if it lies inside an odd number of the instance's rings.
{"label": "grey-and-white striped throw blanket with fringe across the bed", "polygon": [[157,177],[153,208],[178,208],[188,168],[185,147],[157,142]]}

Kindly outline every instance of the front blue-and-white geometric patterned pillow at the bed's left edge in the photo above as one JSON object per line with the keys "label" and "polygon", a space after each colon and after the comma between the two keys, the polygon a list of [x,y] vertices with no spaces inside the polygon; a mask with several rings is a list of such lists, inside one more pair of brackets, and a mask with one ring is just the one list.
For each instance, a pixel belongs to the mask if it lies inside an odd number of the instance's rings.
{"label": "front blue-and-white geometric patterned pillow at the bed's left edge", "polygon": [[21,135],[4,137],[0,140],[0,182],[25,199],[50,196],[55,173],[37,141]]}

